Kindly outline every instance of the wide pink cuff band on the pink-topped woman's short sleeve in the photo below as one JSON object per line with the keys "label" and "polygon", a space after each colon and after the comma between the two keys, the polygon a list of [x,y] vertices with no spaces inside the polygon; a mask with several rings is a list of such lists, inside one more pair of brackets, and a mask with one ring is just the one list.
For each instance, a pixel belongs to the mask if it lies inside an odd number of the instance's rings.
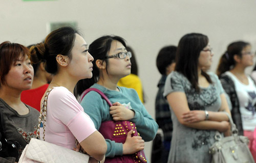
{"label": "wide pink cuff band on the pink-topped woman's short sleeve", "polygon": [[67,124],[67,127],[79,143],[96,131],[93,121],[83,111],[77,113],[77,115]]}

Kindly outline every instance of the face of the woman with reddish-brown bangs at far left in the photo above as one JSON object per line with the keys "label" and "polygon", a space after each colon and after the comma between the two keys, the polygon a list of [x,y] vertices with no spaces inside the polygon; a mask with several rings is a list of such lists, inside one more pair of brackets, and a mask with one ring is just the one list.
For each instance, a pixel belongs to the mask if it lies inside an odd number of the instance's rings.
{"label": "face of the woman with reddish-brown bangs at far left", "polygon": [[19,56],[16,62],[13,62],[10,71],[5,76],[6,84],[4,87],[17,89],[20,91],[28,90],[32,87],[34,69],[27,55]]}

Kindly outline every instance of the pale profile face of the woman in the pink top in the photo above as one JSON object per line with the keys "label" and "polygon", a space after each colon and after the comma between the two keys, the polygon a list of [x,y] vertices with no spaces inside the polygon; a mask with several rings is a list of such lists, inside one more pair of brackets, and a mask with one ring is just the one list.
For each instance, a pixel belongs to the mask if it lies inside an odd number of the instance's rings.
{"label": "pale profile face of the woman in the pink top", "polygon": [[78,34],[74,41],[74,46],[71,50],[72,60],[68,63],[70,67],[68,71],[77,79],[91,78],[93,76],[93,64],[94,60],[88,51],[88,45],[86,41]]}

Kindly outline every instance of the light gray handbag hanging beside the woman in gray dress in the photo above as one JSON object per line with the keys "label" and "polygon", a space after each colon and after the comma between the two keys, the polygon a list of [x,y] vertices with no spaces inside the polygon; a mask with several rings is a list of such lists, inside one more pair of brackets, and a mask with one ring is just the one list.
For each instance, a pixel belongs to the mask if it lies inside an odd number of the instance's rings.
{"label": "light gray handbag hanging beside the woman in gray dress", "polygon": [[[227,114],[227,113],[226,113]],[[238,135],[238,129],[233,123],[232,118],[227,114],[231,125],[232,135],[222,138],[219,131],[216,131],[216,142],[209,148],[212,155],[212,163],[242,163],[254,162],[251,152],[248,148],[249,139]]]}

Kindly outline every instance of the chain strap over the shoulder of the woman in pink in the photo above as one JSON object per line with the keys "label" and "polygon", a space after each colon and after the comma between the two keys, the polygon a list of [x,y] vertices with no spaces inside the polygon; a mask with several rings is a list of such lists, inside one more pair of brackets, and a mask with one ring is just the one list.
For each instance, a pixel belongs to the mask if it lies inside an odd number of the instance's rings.
{"label": "chain strap over the shoulder of the woman in pink", "polygon": [[[41,109],[40,109],[40,115],[38,118],[38,124],[37,124],[37,130],[36,130],[36,138],[40,139],[39,129],[40,129],[40,126],[42,125],[42,128],[44,129],[42,140],[44,140],[44,141],[45,141],[45,131],[46,131],[45,127],[46,127],[47,99],[52,90],[53,90],[53,87],[51,87],[46,92],[46,95],[45,95],[44,99],[42,100],[42,105],[41,105]],[[42,123],[42,121],[43,121],[43,123]]]}

